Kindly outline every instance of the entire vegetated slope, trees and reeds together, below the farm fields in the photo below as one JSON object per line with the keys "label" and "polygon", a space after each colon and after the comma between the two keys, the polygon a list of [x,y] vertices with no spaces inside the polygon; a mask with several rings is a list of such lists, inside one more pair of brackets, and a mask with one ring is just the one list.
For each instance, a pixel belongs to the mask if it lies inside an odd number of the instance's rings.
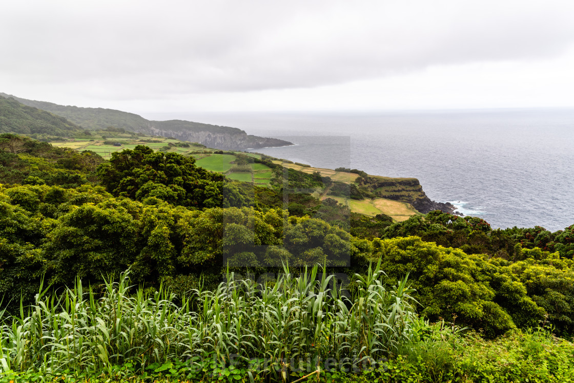
{"label": "entire vegetated slope, trees and reeds together, below the farm fields", "polygon": [[[321,200],[320,172],[165,146],[106,160],[0,136],[5,377],[572,377],[574,225],[367,217]],[[218,173],[197,166],[204,155],[235,160]],[[224,174],[247,167],[269,182]],[[329,357],[342,368],[328,369]],[[352,372],[364,361],[371,368]]]}

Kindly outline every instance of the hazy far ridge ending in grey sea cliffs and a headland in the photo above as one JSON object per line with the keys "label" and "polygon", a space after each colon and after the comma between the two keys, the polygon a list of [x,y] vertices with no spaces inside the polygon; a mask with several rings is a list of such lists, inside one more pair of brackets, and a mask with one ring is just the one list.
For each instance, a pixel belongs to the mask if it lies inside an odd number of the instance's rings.
{"label": "hazy far ridge ending in grey sea cliffs and a headland", "polygon": [[0,96],[13,97],[22,104],[52,112],[90,130],[102,130],[114,126],[131,132],[164,137],[171,136],[180,140],[199,142],[208,147],[224,150],[244,150],[292,144],[280,139],[247,135],[241,129],[228,126],[184,120],[150,121],[137,114],[113,109],[64,106],[46,101],[21,99],[6,93],[0,93]]}

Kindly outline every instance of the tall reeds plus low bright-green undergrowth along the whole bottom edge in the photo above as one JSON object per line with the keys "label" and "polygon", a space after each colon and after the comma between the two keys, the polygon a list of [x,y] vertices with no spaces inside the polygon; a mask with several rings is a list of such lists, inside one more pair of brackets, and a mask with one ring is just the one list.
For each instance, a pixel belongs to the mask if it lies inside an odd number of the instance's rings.
{"label": "tall reeds plus low bright-green undergrowth along the whole bottom edge", "polygon": [[163,286],[130,295],[126,274],[103,294],[80,280],[60,299],[40,288],[29,314],[2,314],[0,379],[573,381],[574,344],[544,326],[484,341],[417,318],[406,281],[387,290],[379,266],[355,275],[349,298],[318,271],[294,278],[286,268],[259,287],[227,273],[214,291],[195,281],[180,299]]}

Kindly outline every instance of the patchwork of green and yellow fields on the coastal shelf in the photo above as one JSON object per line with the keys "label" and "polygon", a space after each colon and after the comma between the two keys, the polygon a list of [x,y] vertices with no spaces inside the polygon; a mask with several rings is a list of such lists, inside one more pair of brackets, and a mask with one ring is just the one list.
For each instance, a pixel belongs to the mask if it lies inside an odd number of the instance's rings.
{"label": "patchwork of green and yellow fields on the coastal shelf", "polygon": [[[369,217],[384,214],[398,222],[431,210],[453,213],[452,205],[431,201],[416,178],[376,175],[367,175],[367,178],[364,178],[351,171],[311,167],[258,153],[218,152],[213,148],[177,139],[133,138],[129,134],[117,132],[106,132],[106,134],[107,140],[74,139],[55,141],[52,144],[77,151],[89,150],[104,159],[109,159],[111,154],[124,149],[145,145],[166,153],[191,155],[197,160],[197,165],[223,173],[236,181],[267,187],[286,182],[291,189],[302,189],[307,190],[305,193],[312,193],[312,200],[304,201],[302,204],[301,201],[293,201],[292,212],[297,211],[298,214],[313,216],[317,213],[318,206],[328,199],[336,201],[352,213]],[[289,171],[285,173],[287,170]]]}

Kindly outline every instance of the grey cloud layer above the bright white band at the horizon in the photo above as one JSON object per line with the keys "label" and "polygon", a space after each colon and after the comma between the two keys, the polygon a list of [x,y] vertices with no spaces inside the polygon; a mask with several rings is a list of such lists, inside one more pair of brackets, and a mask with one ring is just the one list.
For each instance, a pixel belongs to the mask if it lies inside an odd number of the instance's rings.
{"label": "grey cloud layer above the bright white band at the horizon", "polygon": [[569,2],[11,2],[0,79],[108,99],[309,88],[432,65],[539,60]]}

